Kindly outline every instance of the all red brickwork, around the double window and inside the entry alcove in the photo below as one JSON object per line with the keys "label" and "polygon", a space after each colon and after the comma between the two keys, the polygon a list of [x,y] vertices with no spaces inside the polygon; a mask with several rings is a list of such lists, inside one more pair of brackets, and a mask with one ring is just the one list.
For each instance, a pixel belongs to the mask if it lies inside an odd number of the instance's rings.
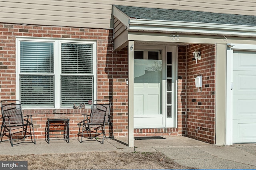
{"label": "all red brickwork, around the double window and inside the entry alcove", "polygon": [[[104,29],[26,26],[0,24],[0,100],[16,99],[16,36],[97,40],[97,96],[113,101],[115,136],[128,135],[128,56],[127,48],[113,50],[113,32]],[[202,60],[195,64],[192,51],[200,49]],[[215,46],[178,47],[178,128],[134,129],[134,136],[187,135],[202,141],[214,141]],[[203,75],[202,92],[196,93],[194,77]],[[187,83],[187,89],[186,89]],[[187,91],[187,93],[186,93]],[[187,103],[187,105],[186,105]],[[68,117],[70,138],[77,138],[77,123],[86,109],[32,109],[37,139],[45,138],[48,117]]]}

